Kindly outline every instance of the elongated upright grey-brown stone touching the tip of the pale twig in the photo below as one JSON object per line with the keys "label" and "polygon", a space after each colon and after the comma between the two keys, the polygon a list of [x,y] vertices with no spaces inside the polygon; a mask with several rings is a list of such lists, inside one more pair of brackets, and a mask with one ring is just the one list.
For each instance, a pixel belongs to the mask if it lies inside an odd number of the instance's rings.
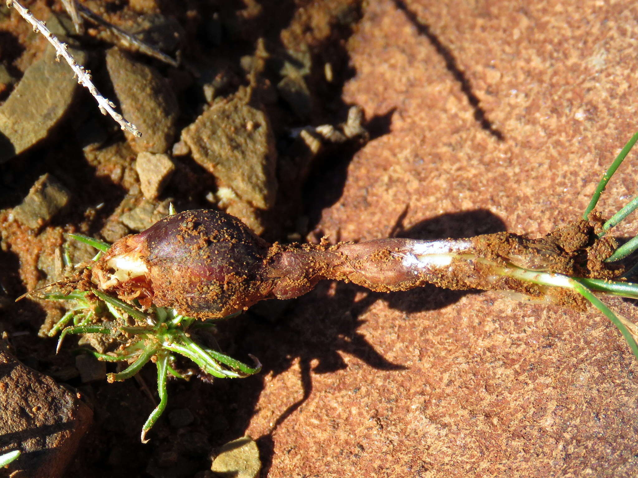
{"label": "elongated upright grey-brown stone touching the tip of the pale twig", "polygon": [[178,106],[174,92],[159,72],[118,48],[107,52],[107,69],[126,119],[142,133],[126,133],[136,152],[165,153],[175,136]]}

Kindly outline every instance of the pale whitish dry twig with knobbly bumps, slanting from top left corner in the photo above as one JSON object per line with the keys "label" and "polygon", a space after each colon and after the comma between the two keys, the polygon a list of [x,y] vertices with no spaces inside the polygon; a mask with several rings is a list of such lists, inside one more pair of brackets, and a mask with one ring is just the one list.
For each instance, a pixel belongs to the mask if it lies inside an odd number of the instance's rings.
{"label": "pale whitish dry twig with knobbly bumps, slanting from top left corner", "polygon": [[20,16],[22,18],[24,18],[25,20],[27,20],[27,22],[33,25],[34,31],[38,31],[41,34],[43,34],[45,38],[47,38],[48,42],[51,45],[53,45],[54,48],[56,48],[57,59],[59,59],[59,57],[63,57],[64,60],[69,64],[69,66],[71,67],[71,69],[73,69],[73,72],[78,78],[78,83],[86,87],[91,93],[91,95],[93,95],[93,98],[96,99],[96,101],[98,102],[98,106],[100,106],[100,111],[102,112],[103,115],[106,115],[108,113],[115,121],[117,121],[117,123],[122,127],[122,129],[125,129],[126,131],[130,131],[130,133],[132,133],[135,136],[138,136],[138,137],[142,136],[142,133],[138,131],[137,127],[135,127],[134,124],[128,122],[128,120],[124,119],[124,117],[121,114],[117,113],[114,110],[115,108],[114,103],[110,101],[109,99],[104,98],[100,94],[98,89],[95,87],[95,85],[91,81],[91,72],[85,69],[84,66],[77,64],[77,61],[75,61],[75,59],[67,51],[68,45],[66,45],[66,43],[62,43],[61,41],[59,41],[56,38],[56,36],[49,31],[49,29],[43,22],[41,22],[36,17],[34,17],[29,10],[24,8],[24,6],[20,5],[20,3],[18,3],[16,0],[6,0],[6,5],[9,8],[11,7],[15,8],[15,10],[17,10],[18,13],[20,13]]}

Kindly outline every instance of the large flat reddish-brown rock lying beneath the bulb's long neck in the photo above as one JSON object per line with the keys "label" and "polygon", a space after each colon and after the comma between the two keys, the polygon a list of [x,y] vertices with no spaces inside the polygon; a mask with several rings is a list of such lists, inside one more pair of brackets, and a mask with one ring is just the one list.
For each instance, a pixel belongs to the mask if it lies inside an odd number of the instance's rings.
{"label": "large flat reddish-brown rock lying beneath the bulb's long neck", "polygon": [[[635,15],[595,1],[401,6],[368,3],[348,45],[346,101],[391,124],[318,229],[540,236],[580,217],[634,133]],[[637,164],[612,180],[605,215],[635,194]],[[298,342],[277,345],[298,358],[267,377],[246,430],[272,442],[269,478],[637,474],[638,363],[600,314],[433,287],[327,291],[299,300]],[[304,400],[299,374],[339,360],[311,373]]]}

